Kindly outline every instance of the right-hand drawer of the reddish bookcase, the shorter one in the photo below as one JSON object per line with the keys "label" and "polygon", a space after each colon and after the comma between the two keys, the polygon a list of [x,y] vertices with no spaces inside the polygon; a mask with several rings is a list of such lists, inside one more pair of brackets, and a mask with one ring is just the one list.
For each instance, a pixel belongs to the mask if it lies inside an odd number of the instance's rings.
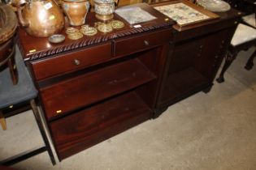
{"label": "right-hand drawer of the reddish bookcase, the shorter one", "polygon": [[161,32],[146,33],[142,36],[132,36],[131,38],[115,40],[114,55],[115,57],[119,57],[153,48],[171,40],[171,35],[171,30],[168,29]]}

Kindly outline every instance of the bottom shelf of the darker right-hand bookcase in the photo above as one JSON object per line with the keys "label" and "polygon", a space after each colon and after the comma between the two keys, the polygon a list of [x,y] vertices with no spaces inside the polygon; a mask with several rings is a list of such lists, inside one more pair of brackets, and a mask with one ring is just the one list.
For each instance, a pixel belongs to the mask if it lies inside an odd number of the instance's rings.
{"label": "bottom shelf of the darker right-hand bookcase", "polygon": [[179,100],[182,96],[192,94],[193,91],[200,91],[201,88],[203,90],[209,83],[210,79],[207,79],[193,67],[169,74],[165,80],[158,104]]}

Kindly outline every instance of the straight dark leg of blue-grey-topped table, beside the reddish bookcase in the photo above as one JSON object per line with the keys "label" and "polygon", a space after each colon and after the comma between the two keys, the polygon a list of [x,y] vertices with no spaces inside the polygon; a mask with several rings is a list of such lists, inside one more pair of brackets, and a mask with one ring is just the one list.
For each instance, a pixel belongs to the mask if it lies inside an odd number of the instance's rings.
{"label": "straight dark leg of blue-grey-topped table, beside the reddish bookcase", "polygon": [[38,125],[38,128],[40,130],[41,136],[42,136],[42,138],[43,138],[43,140],[46,144],[46,150],[48,151],[48,154],[50,156],[51,163],[54,165],[54,164],[56,164],[55,159],[54,159],[54,155],[53,155],[53,152],[51,151],[50,143],[49,143],[48,138],[46,136],[46,131],[44,130],[44,127],[43,127],[43,124],[42,124],[42,121],[41,121],[41,118],[40,118],[40,115],[39,115],[39,112],[38,112],[38,109],[37,109],[37,104],[36,104],[35,100],[30,100],[30,105],[31,105],[31,108],[33,110],[34,116],[36,118],[37,125]]}

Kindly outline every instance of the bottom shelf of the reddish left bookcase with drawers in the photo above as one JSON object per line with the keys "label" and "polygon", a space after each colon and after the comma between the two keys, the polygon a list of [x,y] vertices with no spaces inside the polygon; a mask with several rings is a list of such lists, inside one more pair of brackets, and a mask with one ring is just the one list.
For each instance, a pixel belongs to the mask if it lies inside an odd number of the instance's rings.
{"label": "bottom shelf of the reddish left bookcase with drawers", "polygon": [[59,159],[65,159],[152,117],[132,91],[50,123]]}

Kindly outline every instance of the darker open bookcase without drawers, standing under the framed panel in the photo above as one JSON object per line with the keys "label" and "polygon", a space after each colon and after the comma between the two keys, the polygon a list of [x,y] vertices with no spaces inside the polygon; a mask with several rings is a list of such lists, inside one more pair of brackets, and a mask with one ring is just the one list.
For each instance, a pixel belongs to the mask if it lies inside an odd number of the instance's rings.
{"label": "darker open bookcase without drawers, standing under the framed panel", "polygon": [[235,32],[239,14],[229,11],[220,19],[175,32],[156,114],[198,91],[210,91]]}

